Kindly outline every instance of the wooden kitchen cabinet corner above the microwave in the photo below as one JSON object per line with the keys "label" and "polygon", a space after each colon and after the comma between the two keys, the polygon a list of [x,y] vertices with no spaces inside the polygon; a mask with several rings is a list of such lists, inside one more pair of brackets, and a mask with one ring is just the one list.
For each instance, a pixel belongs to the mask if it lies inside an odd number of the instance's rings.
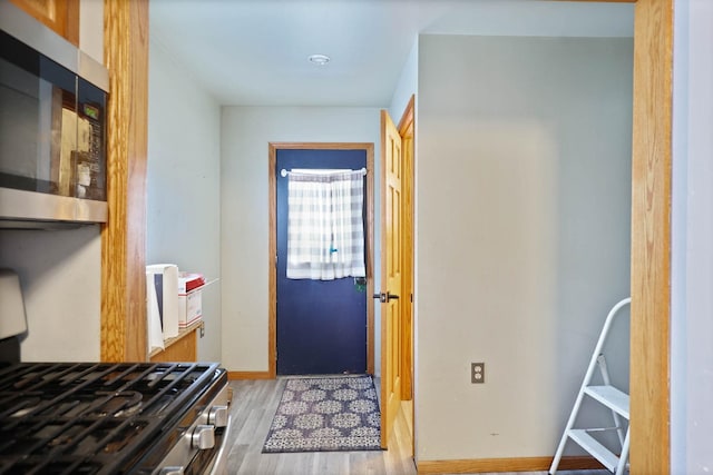
{"label": "wooden kitchen cabinet corner above the microwave", "polygon": [[79,46],[79,0],[10,0],[25,12]]}

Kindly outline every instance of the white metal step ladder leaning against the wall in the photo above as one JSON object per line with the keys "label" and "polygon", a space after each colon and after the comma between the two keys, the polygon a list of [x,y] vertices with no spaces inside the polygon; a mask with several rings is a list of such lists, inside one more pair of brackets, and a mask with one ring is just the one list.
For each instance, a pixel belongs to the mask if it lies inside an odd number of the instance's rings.
{"label": "white metal step ladder leaning against the wall", "polygon": [[[557,453],[555,454],[553,464],[549,467],[549,473],[551,475],[557,472],[559,461],[561,459],[561,455],[565,452],[567,439],[576,442],[582,448],[587,451],[597,461],[599,461],[602,465],[604,465],[609,472],[616,473],[616,475],[622,475],[626,469],[629,444],[628,424],[626,425],[625,434],[622,426],[622,418],[626,419],[627,422],[629,420],[628,394],[625,394],[624,392],[612,386],[609,382],[609,373],[606,368],[606,360],[604,358],[604,355],[602,354],[602,349],[604,348],[604,343],[606,342],[606,337],[609,333],[609,328],[612,327],[612,323],[614,321],[614,317],[624,306],[629,305],[631,303],[631,298],[625,298],[616,304],[612,308],[612,310],[609,310],[609,314],[604,321],[604,328],[602,328],[602,334],[599,335],[597,346],[594,348],[592,359],[589,360],[589,367],[587,368],[584,382],[582,383],[582,387],[579,388],[579,394],[577,394],[575,405],[572,408],[572,414],[569,415],[569,420],[567,422],[565,432],[561,435],[561,439],[559,441],[559,447],[557,447]],[[602,380],[604,382],[604,385],[592,386],[592,377],[594,376],[594,370],[597,366],[599,367],[599,372],[602,373]],[[585,395],[598,402],[599,404],[605,405],[612,410],[614,427],[574,428]],[[621,444],[619,455],[612,453],[612,451],[609,451],[590,435],[590,433],[602,433],[604,431],[616,431]]]}

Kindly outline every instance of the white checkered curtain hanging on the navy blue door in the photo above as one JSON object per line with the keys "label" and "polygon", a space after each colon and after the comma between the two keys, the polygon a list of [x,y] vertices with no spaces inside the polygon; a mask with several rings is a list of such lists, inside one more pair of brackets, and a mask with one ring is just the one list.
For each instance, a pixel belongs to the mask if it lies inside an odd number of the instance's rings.
{"label": "white checkered curtain hanging on the navy blue door", "polygon": [[292,171],[287,181],[287,278],[365,277],[364,170]]}

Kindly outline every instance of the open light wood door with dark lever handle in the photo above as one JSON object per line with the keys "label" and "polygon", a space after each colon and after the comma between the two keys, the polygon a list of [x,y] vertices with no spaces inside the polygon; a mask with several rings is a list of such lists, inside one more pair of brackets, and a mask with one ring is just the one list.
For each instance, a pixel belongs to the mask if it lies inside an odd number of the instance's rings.
{"label": "open light wood door with dark lever handle", "polygon": [[[401,407],[401,136],[381,111],[381,447]],[[406,296],[403,296],[406,298]]]}

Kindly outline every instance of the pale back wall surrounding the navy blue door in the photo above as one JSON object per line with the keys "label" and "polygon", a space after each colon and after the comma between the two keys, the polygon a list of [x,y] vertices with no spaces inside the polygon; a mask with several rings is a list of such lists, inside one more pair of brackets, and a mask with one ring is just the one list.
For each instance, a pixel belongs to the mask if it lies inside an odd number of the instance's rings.
{"label": "pale back wall surrounding the navy blue door", "polygon": [[223,107],[222,117],[222,360],[229,370],[266,372],[268,144],[372,142],[378,164],[379,109]]}

